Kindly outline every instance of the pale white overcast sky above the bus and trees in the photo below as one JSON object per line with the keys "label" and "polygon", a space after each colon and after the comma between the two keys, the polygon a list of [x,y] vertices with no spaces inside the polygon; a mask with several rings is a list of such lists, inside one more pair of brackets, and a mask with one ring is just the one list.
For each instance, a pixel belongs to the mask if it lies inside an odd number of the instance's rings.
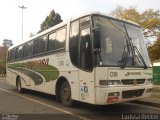
{"label": "pale white overcast sky above the bus and trees", "polygon": [[109,14],[117,6],[133,6],[139,12],[158,10],[160,0],[0,0],[0,45],[4,39],[12,40],[14,45],[22,42],[22,9],[18,7],[22,5],[27,7],[23,10],[23,41],[27,41],[53,9],[65,21],[91,11]]}

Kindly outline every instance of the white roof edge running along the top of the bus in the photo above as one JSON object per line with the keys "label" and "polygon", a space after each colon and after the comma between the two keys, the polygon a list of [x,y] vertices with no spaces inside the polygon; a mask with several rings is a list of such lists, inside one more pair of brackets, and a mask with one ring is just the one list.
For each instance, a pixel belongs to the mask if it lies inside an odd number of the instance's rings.
{"label": "white roof edge running along the top of the bus", "polygon": [[139,26],[139,27],[140,27],[139,24],[137,24],[137,23],[135,23],[135,22],[133,22],[133,21],[126,20],[126,19],[115,18],[115,17],[113,17],[113,16],[106,15],[106,14],[103,14],[103,13],[101,13],[101,12],[87,12],[87,13],[84,13],[84,14],[80,14],[80,15],[77,16],[77,17],[73,17],[73,18],[71,18],[70,20],[66,20],[66,21],[64,21],[64,22],[61,22],[61,23],[59,23],[59,24],[57,24],[57,25],[55,25],[55,26],[53,26],[53,27],[51,27],[51,28],[49,28],[49,29],[47,29],[47,30],[39,33],[39,34],[36,34],[35,36],[28,38],[28,40],[27,40],[27,41],[24,41],[23,43],[20,43],[20,44],[18,44],[18,45],[13,45],[12,47],[9,48],[9,50],[12,49],[12,48],[14,48],[14,47],[16,47],[16,46],[19,46],[19,45],[22,45],[22,44],[24,44],[24,43],[26,43],[26,42],[29,42],[29,41],[31,41],[31,40],[33,40],[33,39],[35,39],[35,38],[38,38],[38,37],[40,37],[40,36],[42,36],[42,35],[44,35],[44,34],[46,34],[46,33],[48,33],[48,32],[51,32],[51,31],[53,31],[53,30],[55,30],[55,29],[57,29],[57,28],[59,28],[59,27],[63,27],[64,25],[66,25],[66,24],[68,23],[68,21],[74,21],[74,20],[76,20],[76,19],[78,19],[78,18],[85,17],[85,16],[88,16],[88,15],[106,16],[106,17],[111,18],[111,19],[120,20],[120,21],[122,21],[122,22],[127,22],[127,23],[129,23],[129,24],[133,24],[133,25],[136,25],[136,26]]}

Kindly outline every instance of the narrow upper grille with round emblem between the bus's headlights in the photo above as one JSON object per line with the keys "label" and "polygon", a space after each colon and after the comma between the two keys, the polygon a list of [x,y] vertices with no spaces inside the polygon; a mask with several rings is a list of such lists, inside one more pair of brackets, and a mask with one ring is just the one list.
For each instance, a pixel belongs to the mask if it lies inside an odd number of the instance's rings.
{"label": "narrow upper grille with round emblem between the bus's headlights", "polygon": [[137,85],[137,84],[144,84],[145,79],[124,79],[121,80],[123,85]]}

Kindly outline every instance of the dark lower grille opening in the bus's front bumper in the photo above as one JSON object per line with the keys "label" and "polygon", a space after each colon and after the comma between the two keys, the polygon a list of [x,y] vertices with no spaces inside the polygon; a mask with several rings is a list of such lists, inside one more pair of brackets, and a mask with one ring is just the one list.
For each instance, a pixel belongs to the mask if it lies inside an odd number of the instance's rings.
{"label": "dark lower grille opening in the bus's front bumper", "polygon": [[139,96],[142,96],[143,92],[144,92],[144,89],[122,91],[122,98],[126,99],[126,98],[139,97]]}

